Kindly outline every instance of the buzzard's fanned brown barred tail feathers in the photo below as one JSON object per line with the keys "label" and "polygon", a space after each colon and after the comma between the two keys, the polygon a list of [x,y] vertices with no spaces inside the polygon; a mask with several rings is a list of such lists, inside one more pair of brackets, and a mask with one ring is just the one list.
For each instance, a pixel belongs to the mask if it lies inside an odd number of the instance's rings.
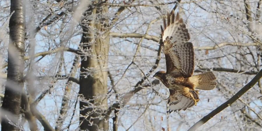
{"label": "buzzard's fanned brown barred tail feathers", "polygon": [[217,82],[213,72],[208,71],[199,75],[189,77],[189,82],[192,82],[197,89],[201,90],[212,90],[216,88]]}

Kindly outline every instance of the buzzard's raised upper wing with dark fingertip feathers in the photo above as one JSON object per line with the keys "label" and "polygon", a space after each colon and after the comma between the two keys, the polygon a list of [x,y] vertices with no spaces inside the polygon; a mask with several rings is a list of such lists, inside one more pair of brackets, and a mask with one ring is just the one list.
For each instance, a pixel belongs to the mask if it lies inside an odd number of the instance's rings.
{"label": "buzzard's raised upper wing with dark fingertip feathers", "polygon": [[188,30],[182,18],[174,10],[164,17],[164,29],[161,26],[163,52],[166,57],[167,73],[191,77],[195,67],[195,53]]}

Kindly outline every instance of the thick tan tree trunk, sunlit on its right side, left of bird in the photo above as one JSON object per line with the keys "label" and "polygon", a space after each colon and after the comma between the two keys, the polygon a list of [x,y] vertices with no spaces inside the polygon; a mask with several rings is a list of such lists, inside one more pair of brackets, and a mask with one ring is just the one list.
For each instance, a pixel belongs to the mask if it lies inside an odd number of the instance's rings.
{"label": "thick tan tree trunk, sunlit on its right side, left of bird", "polygon": [[[106,29],[106,20],[102,17],[107,10],[107,7],[93,8],[92,15],[89,13],[85,16],[94,16],[92,20],[82,21],[84,33],[81,48],[88,55],[81,56],[79,96],[85,99],[80,100],[81,130],[108,130],[109,126],[108,121],[101,118],[101,114],[108,109],[106,94],[109,31]],[[84,21],[88,21],[88,24]]]}

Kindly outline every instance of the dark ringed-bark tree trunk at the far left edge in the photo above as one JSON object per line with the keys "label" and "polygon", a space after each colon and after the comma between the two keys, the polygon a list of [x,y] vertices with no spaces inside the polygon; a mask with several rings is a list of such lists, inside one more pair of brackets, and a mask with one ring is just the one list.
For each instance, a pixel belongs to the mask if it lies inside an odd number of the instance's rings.
{"label": "dark ringed-bark tree trunk at the far left edge", "polygon": [[[8,69],[5,96],[2,108],[9,113],[5,114],[14,124],[18,124],[20,114],[21,93],[23,89],[24,70],[24,35],[25,35],[25,8],[23,1],[11,0],[9,21]],[[6,118],[2,118],[2,131],[18,130],[10,125]]]}

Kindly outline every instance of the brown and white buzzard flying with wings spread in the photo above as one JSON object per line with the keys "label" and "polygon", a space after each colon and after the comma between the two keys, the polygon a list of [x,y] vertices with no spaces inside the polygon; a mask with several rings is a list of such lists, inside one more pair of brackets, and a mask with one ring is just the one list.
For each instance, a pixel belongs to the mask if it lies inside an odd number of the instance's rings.
{"label": "brown and white buzzard flying with wings spread", "polygon": [[169,113],[172,111],[186,110],[197,105],[199,92],[195,89],[212,90],[216,87],[213,72],[193,75],[195,67],[195,53],[188,30],[182,18],[174,10],[164,17],[164,29],[161,26],[163,40],[162,49],[166,58],[167,72],[158,71],[153,77],[159,79],[169,88]]}

